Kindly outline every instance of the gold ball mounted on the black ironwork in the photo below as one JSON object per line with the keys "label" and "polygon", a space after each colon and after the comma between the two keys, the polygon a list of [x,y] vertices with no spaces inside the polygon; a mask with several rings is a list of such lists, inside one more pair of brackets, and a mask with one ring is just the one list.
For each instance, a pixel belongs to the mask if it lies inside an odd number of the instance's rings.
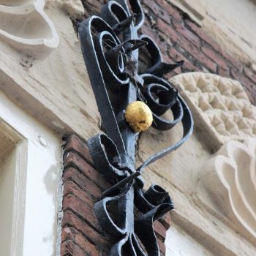
{"label": "gold ball mounted on the black ironwork", "polygon": [[151,126],[153,116],[150,108],[144,102],[135,101],[127,106],[125,120],[135,132],[142,132]]}

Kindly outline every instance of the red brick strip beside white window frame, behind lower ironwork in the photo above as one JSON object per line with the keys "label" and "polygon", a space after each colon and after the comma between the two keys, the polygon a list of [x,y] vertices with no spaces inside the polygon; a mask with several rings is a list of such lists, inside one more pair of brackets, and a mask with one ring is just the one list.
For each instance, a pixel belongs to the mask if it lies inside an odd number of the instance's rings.
{"label": "red brick strip beside white window frame, behind lower ironwork", "polygon": [[[75,135],[64,146],[64,197],[61,256],[109,256],[113,237],[102,231],[94,214],[94,203],[111,187],[94,169],[86,143]],[[162,255],[170,214],[154,223]]]}

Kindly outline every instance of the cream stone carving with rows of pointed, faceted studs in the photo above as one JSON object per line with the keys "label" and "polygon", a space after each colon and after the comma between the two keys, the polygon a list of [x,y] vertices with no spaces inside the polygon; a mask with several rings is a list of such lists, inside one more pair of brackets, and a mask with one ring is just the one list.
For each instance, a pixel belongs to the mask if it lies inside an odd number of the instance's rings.
{"label": "cream stone carving with rows of pointed, faceted studs", "polygon": [[211,151],[229,140],[256,137],[256,107],[238,81],[190,72],[176,75],[170,82],[188,103],[199,139]]}

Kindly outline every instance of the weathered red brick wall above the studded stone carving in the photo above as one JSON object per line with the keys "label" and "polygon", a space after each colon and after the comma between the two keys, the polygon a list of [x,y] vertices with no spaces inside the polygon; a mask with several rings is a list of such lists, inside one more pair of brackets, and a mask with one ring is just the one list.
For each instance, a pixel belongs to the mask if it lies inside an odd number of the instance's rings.
{"label": "weathered red brick wall above the studded stone carving", "polygon": [[[99,13],[107,0],[81,0],[85,16]],[[178,11],[167,0],[141,0],[146,14],[142,28],[162,50],[166,61],[184,60],[184,66],[167,74],[167,78],[181,72],[205,71],[235,78],[245,87],[249,99],[256,104],[256,73],[233,56],[225,53],[221,45],[200,27]]]}

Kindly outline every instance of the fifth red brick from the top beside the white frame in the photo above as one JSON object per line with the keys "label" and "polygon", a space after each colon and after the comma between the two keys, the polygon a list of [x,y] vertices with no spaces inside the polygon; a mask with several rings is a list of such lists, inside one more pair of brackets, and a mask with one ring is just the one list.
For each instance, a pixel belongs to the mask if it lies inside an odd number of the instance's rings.
{"label": "fifth red brick from the top beside the white frame", "polygon": [[79,218],[86,219],[86,221],[89,222],[91,226],[101,230],[94,211],[86,206],[82,200],[75,196],[67,195],[64,197],[62,206],[64,211],[73,211]]}

